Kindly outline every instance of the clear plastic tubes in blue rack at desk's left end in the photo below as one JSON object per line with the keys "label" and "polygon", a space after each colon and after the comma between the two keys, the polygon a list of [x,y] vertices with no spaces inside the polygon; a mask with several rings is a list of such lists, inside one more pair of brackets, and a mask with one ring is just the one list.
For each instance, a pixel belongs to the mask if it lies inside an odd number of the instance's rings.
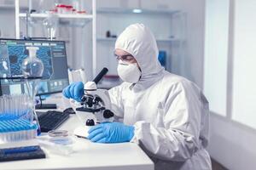
{"label": "clear plastic tubes in blue rack at desk's left end", "polygon": [[0,97],[0,143],[33,139],[38,124],[34,122],[33,100],[26,94]]}

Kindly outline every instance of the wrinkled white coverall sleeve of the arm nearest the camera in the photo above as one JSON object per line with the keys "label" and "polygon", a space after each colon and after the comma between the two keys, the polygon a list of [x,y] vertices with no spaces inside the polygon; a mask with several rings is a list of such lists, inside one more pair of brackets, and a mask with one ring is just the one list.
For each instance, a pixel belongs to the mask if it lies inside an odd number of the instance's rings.
{"label": "wrinkled white coverall sleeve of the arm nearest the camera", "polygon": [[139,144],[149,156],[186,161],[201,145],[200,95],[190,82],[177,82],[165,93],[168,93],[166,100],[158,108],[164,127],[136,122],[131,142]]}

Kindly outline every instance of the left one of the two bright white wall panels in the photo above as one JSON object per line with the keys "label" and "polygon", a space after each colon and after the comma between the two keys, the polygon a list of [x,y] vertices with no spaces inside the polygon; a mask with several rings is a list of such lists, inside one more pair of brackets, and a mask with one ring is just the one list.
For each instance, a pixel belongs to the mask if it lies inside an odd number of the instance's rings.
{"label": "left one of the two bright white wall panels", "polygon": [[207,0],[204,93],[210,110],[226,115],[230,0]]}

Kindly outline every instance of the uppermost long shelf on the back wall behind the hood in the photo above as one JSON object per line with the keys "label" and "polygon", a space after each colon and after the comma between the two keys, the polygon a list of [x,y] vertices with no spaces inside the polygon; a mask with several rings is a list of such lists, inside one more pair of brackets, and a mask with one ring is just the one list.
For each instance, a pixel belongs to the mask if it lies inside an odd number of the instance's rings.
{"label": "uppermost long shelf on the back wall behind the hood", "polygon": [[178,10],[152,10],[140,8],[141,12],[135,12],[135,8],[98,8],[98,14],[175,14]]}

